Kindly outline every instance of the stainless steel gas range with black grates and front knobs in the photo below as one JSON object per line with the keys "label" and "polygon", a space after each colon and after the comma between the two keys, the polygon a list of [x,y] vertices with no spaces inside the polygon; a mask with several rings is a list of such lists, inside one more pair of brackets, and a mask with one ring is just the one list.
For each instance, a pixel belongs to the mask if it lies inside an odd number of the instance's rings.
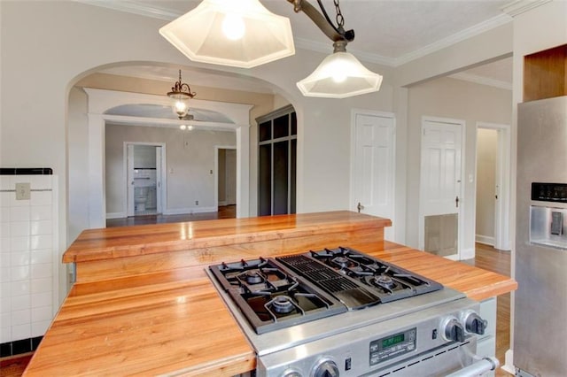
{"label": "stainless steel gas range with black grates and front knobs", "polygon": [[257,353],[258,376],[472,376],[498,364],[475,363],[486,327],[477,302],[357,250],[207,273]]}

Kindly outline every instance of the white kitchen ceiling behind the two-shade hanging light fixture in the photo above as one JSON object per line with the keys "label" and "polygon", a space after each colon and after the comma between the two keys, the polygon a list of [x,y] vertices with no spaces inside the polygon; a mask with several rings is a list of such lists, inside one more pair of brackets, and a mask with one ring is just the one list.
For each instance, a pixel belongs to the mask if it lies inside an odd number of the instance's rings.
{"label": "white kitchen ceiling behind the two-shade hanging light fixture", "polygon": [[[89,1],[89,0],[85,0]],[[309,0],[318,7],[316,0]],[[108,2],[108,3],[113,3]],[[106,3],[106,4],[108,4]],[[114,2],[114,6],[115,6]],[[146,12],[162,19],[174,19],[195,8],[198,0],[122,0],[128,9]],[[293,12],[286,0],[262,0],[269,11],[291,20],[295,42],[299,47],[332,52],[332,43],[303,13]],[[509,21],[501,8],[510,0],[343,0],[340,3],[345,28],[354,29],[356,38],[348,50],[361,53],[364,58],[398,65],[415,58],[419,51]],[[96,4],[105,4],[97,2]],[[332,0],[322,4],[335,18]]]}

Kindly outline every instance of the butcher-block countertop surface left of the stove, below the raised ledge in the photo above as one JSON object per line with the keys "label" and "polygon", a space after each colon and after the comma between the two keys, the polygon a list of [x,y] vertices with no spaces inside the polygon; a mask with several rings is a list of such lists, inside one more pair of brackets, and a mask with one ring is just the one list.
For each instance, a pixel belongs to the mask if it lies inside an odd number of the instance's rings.
{"label": "butcher-block countertop surface left of the stove, below the raised ledge", "polygon": [[27,376],[235,375],[255,355],[208,280],[66,298]]}

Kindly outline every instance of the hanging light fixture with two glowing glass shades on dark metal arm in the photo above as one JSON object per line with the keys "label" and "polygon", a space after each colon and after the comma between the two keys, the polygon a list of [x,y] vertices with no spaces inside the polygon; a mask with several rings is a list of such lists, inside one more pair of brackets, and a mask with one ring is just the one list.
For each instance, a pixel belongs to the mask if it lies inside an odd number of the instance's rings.
{"label": "hanging light fixture with two glowing glass shades on dark metal arm", "polygon": [[[339,0],[333,0],[337,25],[322,0],[316,0],[321,12],[307,0],[287,1],[333,42],[333,53],[297,83],[304,96],[345,98],[379,90],[382,76],[346,52],[354,31],[345,30]],[[259,0],[203,0],[159,33],[191,60],[215,65],[252,68],[295,54],[290,20],[269,12]]]}

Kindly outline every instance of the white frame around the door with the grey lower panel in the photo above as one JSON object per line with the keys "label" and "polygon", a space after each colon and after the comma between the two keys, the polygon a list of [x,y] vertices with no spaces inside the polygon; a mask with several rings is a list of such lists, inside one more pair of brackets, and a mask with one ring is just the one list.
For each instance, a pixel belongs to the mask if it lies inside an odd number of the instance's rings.
{"label": "white frame around the door with the grey lower panel", "polygon": [[[466,122],[462,119],[450,119],[450,118],[438,118],[438,117],[422,117],[422,127],[421,127],[421,134],[420,134],[420,182],[419,182],[419,246],[420,250],[423,250],[425,247],[425,215],[423,214],[423,201],[424,201],[424,190],[423,190],[423,161],[422,161],[422,153],[423,153],[423,132],[425,130],[425,123],[426,122],[436,122],[436,123],[447,123],[452,125],[459,125],[462,127],[461,132],[461,185],[459,188],[459,203],[464,203],[464,182],[462,180],[465,168],[465,134],[466,134]],[[459,260],[462,256],[462,249],[463,249],[463,224],[464,219],[462,216],[462,205],[459,205],[459,209],[457,211],[457,254],[455,257],[448,257],[449,259],[457,259]]]}

